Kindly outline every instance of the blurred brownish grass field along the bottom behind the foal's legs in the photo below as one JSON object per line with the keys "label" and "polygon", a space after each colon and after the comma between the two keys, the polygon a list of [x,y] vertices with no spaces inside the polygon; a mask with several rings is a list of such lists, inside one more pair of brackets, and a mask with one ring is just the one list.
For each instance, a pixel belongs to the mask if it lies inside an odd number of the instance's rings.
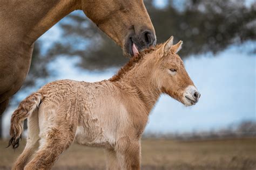
{"label": "blurred brownish grass field along the bottom behind the foal's legs", "polygon": [[[0,169],[10,169],[24,145],[25,140],[14,151],[5,148],[7,141],[0,140]],[[53,169],[105,169],[104,150],[73,144]],[[143,139],[142,169],[256,170],[256,138],[207,141]]]}

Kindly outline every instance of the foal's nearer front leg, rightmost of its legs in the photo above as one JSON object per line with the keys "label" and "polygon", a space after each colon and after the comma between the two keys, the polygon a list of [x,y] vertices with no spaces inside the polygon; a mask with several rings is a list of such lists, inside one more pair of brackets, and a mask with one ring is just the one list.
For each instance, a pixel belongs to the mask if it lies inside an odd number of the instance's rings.
{"label": "foal's nearer front leg, rightmost of its legs", "polygon": [[118,164],[122,169],[140,169],[140,140],[123,137],[116,147]]}

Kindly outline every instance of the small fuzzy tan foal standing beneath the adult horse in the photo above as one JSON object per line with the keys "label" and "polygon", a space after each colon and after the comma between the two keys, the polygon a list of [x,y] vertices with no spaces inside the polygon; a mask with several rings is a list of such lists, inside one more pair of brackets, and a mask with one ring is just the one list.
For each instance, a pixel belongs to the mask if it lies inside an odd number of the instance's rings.
{"label": "small fuzzy tan foal standing beneath the adult horse", "polygon": [[104,147],[107,169],[140,169],[140,137],[159,96],[185,105],[200,97],[177,55],[181,44],[171,37],[133,56],[109,80],[55,81],[26,97],[11,118],[14,148],[28,118],[26,146],[13,169],[50,169],[73,141]]}

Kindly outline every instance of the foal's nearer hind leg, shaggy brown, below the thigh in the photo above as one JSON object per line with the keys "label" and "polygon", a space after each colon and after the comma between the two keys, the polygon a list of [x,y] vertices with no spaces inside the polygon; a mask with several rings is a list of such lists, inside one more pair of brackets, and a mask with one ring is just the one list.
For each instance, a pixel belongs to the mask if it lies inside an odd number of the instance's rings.
{"label": "foal's nearer hind leg, shaggy brown, below the thigh", "polygon": [[75,133],[72,130],[51,128],[41,138],[39,150],[25,169],[51,169],[59,155],[73,142]]}

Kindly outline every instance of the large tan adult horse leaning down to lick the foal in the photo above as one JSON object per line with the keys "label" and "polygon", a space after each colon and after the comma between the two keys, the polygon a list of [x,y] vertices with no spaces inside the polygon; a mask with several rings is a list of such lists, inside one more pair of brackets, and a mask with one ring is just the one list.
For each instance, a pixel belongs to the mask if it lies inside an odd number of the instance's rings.
{"label": "large tan adult horse leaning down to lick the foal", "polygon": [[143,0],[2,0],[0,116],[28,74],[34,42],[74,10],[83,10],[100,30],[123,48],[126,55],[156,44]]}

